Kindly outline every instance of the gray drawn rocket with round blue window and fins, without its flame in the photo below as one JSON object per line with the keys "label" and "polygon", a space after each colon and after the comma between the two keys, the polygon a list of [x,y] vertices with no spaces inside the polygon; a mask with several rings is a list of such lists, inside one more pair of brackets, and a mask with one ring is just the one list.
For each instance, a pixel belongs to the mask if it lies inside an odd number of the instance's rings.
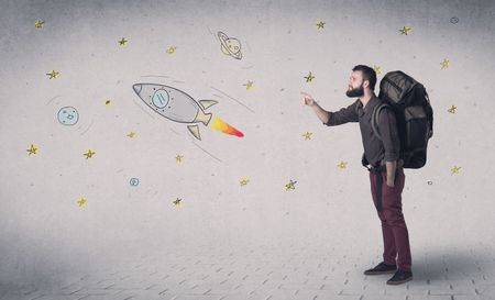
{"label": "gray drawn rocket with round blue window and fins, without its flame", "polygon": [[191,124],[187,129],[198,140],[201,140],[201,136],[197,123],[208,125],[212,114],[206,113],[205,110],[218,103],[215,100],[196,102],[186,92],[163,85],[135,84],[132,88],[144,103],[161,115],[175,122]]}

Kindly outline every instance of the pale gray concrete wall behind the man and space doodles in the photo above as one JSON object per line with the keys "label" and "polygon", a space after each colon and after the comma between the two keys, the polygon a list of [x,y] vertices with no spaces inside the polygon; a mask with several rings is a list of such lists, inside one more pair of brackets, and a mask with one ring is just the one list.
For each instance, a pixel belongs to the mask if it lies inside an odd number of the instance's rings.
{"label": "pale gray concrete wall behind the man and space doodles", "polygon": [[[414,244],[493,243],[494,2],[307,2],[1,1],[0,280],[218,241],[380,244],[359,126],[323,126],[301,105],[300,91],[328,110],[350,104],[358,64],[380,66],[378,80],[404,70],[430,95],[429,160],[404,191]],[[241,59],[222,53],[219,31],[241,42]],[[194,138],[146,107],[138,82],[218,101],[207,111],[244,137],[200,124]],[[77,109],[75,125],[58,122],[63,107]]]}

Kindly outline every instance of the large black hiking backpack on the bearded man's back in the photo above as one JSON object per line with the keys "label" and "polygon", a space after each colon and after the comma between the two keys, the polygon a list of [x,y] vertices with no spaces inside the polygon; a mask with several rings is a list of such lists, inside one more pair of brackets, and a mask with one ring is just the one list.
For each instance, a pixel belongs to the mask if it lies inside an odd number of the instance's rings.
{"label": "large black hiking backpack on the bearded man's back", "polygon": [[376,126],[378,113],[391,108],[397,121],[404,167],[421,168],[427,160],[428,140],[433,135],[433,109],[425,87],[403,71],[391,71],[380,82],[378,98],[383,103],[373,110],[373,132],[382,140]]}

